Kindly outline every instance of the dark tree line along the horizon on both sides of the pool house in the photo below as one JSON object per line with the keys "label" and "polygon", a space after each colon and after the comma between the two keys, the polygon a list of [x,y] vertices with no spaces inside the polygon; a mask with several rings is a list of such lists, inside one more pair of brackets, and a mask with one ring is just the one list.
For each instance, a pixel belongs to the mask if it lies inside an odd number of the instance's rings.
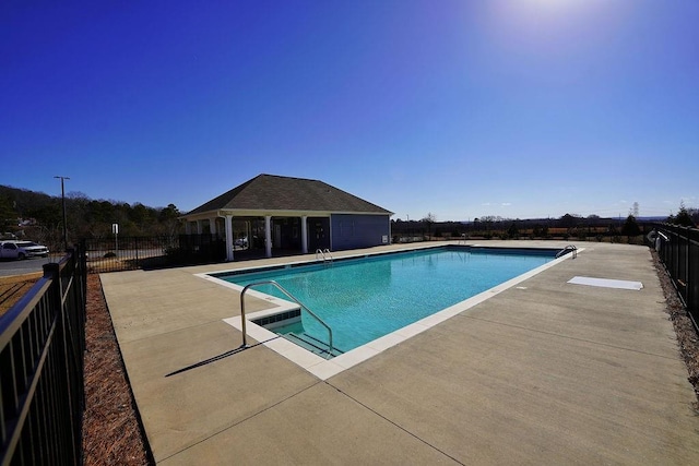
{"label": "dark tree line along the horizon on both sides of the pool house", "polygon": [[[181,215],[177,206],[149,207],[141,203],[128,204],[114,200],[92,200],[82,192],[66,195],[66,217],[68,242],[74,243],[85,238],[108,238],[112,236],[112,225],[119,225],[119,235],[175,237],[182,230]],[[666,223],[696,227],[699,210],[687,208],[680,203],[676,215]],[[642,230],[632,214],[625,222],[602,218],[596,215],[581,217],[566,214],[560,218],[510,219],[499,216],[483,216],[473,222],[438,222],[431,213],[419,220],[391,220],[394,235],[427,235],[428,237],[460,237],[477,235],[483,237],[518,238],[529,236],[547,238],[553,235],[636,236]],[[60,196],[42,192],[0,186],[0,235],[19,237],[43,242],[51,250],[60,250],[63,235],[63,214]]]}

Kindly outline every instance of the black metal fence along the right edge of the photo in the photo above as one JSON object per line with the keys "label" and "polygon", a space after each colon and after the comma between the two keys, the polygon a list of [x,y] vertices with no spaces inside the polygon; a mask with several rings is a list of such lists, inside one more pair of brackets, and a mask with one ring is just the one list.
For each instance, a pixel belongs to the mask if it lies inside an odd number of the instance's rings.
{"label": "black metal fence along the right edge of the photo", "polygon": [[655,225],[653,247],[699,332],[699,229]]}

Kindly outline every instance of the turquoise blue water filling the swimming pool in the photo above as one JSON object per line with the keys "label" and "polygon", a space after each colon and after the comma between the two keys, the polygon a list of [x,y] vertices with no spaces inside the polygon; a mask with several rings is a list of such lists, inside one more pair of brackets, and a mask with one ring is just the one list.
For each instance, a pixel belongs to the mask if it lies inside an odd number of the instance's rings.
{"label": "turquoise blue water filling the swimming pool", "polygon": [[[217,277],[239,286],[277,282],[323,319],[334,346],[347,351],[536,268],[555,254],[447,247]],[[254,289],[287,299],[272,285]],[[306,312],[301,324],[275,332],[328,340],[328,331]]]}

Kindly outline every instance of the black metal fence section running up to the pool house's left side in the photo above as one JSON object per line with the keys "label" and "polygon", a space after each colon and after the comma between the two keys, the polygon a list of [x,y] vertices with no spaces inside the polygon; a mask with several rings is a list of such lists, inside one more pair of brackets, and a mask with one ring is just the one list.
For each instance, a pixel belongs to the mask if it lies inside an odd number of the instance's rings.
{"label": "black metal fence section running up to the pool house's left side", "polygon": [[104,273],[222,262],[225,239],[218,235],[84,239],[87,272]]}

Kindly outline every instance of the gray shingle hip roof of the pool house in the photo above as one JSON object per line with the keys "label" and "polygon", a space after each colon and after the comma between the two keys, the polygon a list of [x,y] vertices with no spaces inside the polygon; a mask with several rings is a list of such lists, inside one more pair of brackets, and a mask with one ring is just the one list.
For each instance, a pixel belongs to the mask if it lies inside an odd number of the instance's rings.
{"label": "gray shingle hip roof of the pool house", "polygon": [[259,175],[188,215],[217,210],[392,214],[322,181],[275,175]]}

